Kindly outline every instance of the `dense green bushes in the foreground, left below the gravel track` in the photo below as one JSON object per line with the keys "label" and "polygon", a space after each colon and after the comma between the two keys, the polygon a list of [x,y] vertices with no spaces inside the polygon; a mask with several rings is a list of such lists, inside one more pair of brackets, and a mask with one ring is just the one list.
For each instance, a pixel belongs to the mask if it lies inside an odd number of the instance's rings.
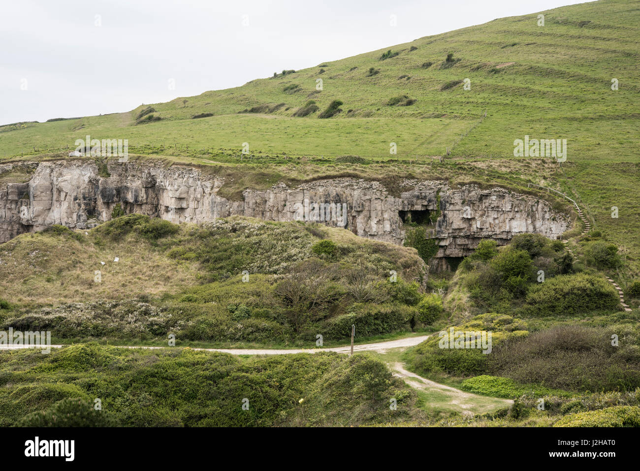
{"label": "dense green bushes in the foreground, left below the gravel track", "polygon": [[[0,391],[0,426],[358,426],[420,417],[415,392],[384,363],[362,354],[241,359],[179,347],[93,346],[111,364],[79,370],[56,361],[68,348],[0,356],[0,376],[20,377],[19,385]],[[60,367],[52,371],[51,363]],[[16,392],[33,389],[35,381],[69,390],[17,408]],[[101,411],[93,408],[96,397]],[[397,410],[390,410],[390,398]]]}

